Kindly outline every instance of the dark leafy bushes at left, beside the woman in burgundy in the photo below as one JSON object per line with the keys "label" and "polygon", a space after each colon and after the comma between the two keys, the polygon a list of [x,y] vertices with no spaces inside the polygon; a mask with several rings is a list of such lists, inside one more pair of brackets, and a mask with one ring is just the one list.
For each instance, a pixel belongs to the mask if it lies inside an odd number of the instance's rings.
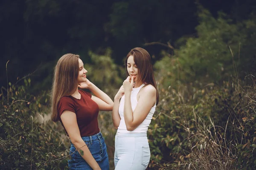
{"label": "dark leafy bushes at left, beside the woman in burgundy", "polygon": [[63,130],[57,130],[52,122],[39,121],[49,111],[49,95],[27,94],[30,79],[24,82],[25,86],[10,85],[7,96],[0,95],[0,167],[67,169]]}

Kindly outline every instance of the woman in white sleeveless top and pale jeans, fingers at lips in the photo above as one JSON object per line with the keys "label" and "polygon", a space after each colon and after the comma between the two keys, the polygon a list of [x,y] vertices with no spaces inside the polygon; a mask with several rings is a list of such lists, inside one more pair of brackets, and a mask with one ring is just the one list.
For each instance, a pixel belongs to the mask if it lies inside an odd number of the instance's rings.
{"label": "woman in white sleeveless top and pale jeans, fingers at lips", "polygon": [[151,57],[143,48],[132,49],[125,59],[127,79],[114,98],[115,170],[145,170],[150,161],[148,126],[158,91]]}

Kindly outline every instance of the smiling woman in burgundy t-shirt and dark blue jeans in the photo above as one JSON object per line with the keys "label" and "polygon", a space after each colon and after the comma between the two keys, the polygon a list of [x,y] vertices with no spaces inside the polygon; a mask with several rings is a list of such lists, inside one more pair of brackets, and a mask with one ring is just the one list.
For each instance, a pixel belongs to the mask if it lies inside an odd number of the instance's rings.
{"label": "smiling woman in burgundy t-shirt and dark blue jeans", "polygon": [[[52,120],[60,121],[70,137],[71,170],[109,170],[99,111],[112,111],[111,98],[86,78],[79,55],[65,54],[55,66],[52,85]],[[79,90],[87,88],[90,93]]]}

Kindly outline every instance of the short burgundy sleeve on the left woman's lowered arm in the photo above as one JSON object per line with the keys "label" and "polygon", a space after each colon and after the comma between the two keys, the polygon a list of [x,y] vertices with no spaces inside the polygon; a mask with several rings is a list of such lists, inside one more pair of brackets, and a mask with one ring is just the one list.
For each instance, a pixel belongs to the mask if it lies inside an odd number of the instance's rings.
{"label": "short burgundy sleeve on the left woman's lowered arm", "polygon": [[61,99],[57,105],[57,111],[58,111],[59,118],[61,118],[61,114],[65,110],[72,111],[72,112],[76,113],[75,105],[74,105],[72,99],[64,96],[64,97],[61,97]]}

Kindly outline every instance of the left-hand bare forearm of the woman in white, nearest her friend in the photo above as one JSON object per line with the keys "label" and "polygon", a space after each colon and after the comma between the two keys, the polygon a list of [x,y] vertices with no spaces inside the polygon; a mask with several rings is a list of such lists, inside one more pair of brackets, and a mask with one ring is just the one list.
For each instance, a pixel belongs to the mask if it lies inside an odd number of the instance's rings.
{"label": "left-hand bare forearm of the woman in white, nearest her friend", "polygon": [[120,98],[125,94],[124,91],[124,87],[121,86],[121,88],[119,89],[119,91],[117,92],[115,98],[114,98],[114,105],[113,105],[113,111],[112,111],[112,121],[113,121],[113,126],[117,129],[119,127],[120,124],[120,115],[118,112],[118,108],[119,108],[119,101]]}

